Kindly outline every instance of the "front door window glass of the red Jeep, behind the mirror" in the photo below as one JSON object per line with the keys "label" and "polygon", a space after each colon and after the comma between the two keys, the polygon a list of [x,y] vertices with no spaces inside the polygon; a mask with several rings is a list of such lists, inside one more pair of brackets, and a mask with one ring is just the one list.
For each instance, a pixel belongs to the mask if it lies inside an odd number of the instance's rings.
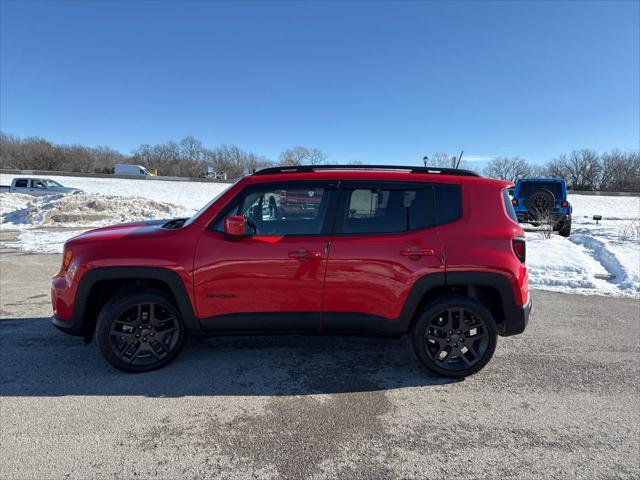
{"label": "front door window glass of the red Jeep, behind the mirror", "polygon": [[323,187],[296,185],[252,188],[216,221],[213,229],[224,231],[224,218],[242,215],[254,235],[318,235],[327,210],[329,191]]}

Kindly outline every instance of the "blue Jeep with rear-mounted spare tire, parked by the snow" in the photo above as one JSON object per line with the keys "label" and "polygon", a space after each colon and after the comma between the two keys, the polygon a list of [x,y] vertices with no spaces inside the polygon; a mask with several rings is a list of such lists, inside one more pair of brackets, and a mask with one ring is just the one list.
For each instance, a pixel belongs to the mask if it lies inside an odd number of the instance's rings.
{"label": "blue Jeep with rear-mounted spare tire, parked by the snow", "polygon": [[520,178],[513,191],[513,208],[518,222],[534,227],[551,224],[563,237],[571,234],[571,204],[567,184],[557,178]]}

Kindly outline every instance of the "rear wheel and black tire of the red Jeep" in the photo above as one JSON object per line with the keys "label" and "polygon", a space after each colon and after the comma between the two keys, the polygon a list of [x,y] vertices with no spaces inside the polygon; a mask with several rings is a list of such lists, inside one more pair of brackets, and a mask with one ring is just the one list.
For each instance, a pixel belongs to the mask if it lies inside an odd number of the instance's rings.
{"label": "rear wheel and black tire of the red Jeep", "polygon": [[[460,312],[463,327],[459,323]],[[446,377],[467,377],[480,371],[491,360],[497,341],[498,330],[491,312],[480,302],[461,295],[427,305],[412,331],[418,359],[432,372]],[[447,352],[446,356],[442,357],[442,352]]]}

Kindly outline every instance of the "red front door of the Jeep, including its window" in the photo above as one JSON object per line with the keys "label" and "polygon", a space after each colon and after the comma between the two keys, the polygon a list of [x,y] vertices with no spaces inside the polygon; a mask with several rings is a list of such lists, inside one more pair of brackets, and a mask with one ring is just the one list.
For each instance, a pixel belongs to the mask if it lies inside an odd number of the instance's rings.
{"label": "red front door of the Jeep, including its window", "polygon": [[[231,202],[196,249],[205,330],[319,330],[335,194],[328,182],[259,184]],[[247,237],[225,237],[233,215],[247,219]]]}

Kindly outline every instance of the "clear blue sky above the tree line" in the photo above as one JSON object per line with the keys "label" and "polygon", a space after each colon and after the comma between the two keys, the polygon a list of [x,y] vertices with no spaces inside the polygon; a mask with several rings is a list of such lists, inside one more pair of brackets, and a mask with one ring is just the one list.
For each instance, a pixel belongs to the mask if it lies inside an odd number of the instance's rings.
{"label": "clear blue sky above the tree line", "polygon": [[638,149],[639,5],[3,0],[0,128],[335,162]]}

